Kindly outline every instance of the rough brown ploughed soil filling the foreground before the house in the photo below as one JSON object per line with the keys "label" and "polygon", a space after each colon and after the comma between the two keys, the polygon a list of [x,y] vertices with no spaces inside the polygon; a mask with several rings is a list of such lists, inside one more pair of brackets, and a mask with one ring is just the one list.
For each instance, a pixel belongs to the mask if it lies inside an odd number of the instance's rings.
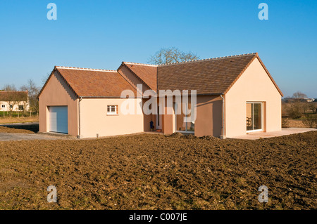
{"label": "rough brown ploughed soil filling the foreground before the house", "polygon": [[[0,209],[317,209],[316,139],[0,142]],[[49,185],[57,203],[46,201]]]}

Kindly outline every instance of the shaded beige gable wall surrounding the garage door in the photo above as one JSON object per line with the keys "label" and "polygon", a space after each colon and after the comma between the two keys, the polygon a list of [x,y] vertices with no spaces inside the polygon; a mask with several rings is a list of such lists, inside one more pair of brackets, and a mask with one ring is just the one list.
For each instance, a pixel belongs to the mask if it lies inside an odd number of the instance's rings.
{"label": "shaded beige gable wall surrounding the garage door", "polygon": [[68,134],[77,136],[77,96],[55,72],[39,95],[39,131],[49,132],[49,106],[68,106]]}

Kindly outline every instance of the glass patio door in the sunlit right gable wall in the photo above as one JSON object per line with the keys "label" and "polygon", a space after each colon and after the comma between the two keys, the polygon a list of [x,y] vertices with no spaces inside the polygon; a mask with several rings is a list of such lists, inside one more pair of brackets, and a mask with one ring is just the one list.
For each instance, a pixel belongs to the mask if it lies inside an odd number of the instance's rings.
{"label": "glass patio door in the sunlit right gable wall", "polygon": [[247,131],[263,130],[263,103],[247,103]]}

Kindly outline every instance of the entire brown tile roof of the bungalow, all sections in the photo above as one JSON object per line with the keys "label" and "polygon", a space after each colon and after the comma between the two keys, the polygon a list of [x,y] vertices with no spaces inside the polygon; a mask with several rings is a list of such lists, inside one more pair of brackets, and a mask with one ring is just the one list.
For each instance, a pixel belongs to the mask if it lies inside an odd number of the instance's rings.
{"label": "entire brown tile roof of the bungalow, all sections", "polygon": [[[147,65],[122,62],[120,67],[127,67],[135,76],[152,90],[197,90],[197,94],[227,93],[235,81],[258,58],[268,77],[280,94],[280,88],[271,77],[258,53],[233,55],[221,58],[209,58],[178,62],[168,65]],[[120,69],[118,68],[118,70]],[[77,96],[82,97],[120,97],[120,93],[129,89],[136,95],[132,86],[115,70],[94,70],[80,67],[55,67],[61,77]],[[47,82],[49,79],[47,79]],[[44,87],[40,91],[42,93]]]}

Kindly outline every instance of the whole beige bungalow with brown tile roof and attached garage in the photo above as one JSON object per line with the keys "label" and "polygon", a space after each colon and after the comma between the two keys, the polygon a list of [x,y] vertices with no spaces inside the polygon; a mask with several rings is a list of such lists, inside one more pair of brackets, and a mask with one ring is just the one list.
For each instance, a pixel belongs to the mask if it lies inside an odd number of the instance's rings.
{"label": "whole beige bungalow with brown tile roof and attached garage", "polygon": [[[172,102],[162,90],[172,92]],[[123,91],[133,97],[122,98]],[[281,97],[258,53],[167,65],[122,62],[118,70],[56,66],[39,93],[39,131],[91,138],[150,131],[153,121],[166,134],[232,138],[279,131]],[[150,99],[156,113],[142,110]],[[123,112],[127,102],[135,113]],[[195,119],[185,119],[193,111]]]}

